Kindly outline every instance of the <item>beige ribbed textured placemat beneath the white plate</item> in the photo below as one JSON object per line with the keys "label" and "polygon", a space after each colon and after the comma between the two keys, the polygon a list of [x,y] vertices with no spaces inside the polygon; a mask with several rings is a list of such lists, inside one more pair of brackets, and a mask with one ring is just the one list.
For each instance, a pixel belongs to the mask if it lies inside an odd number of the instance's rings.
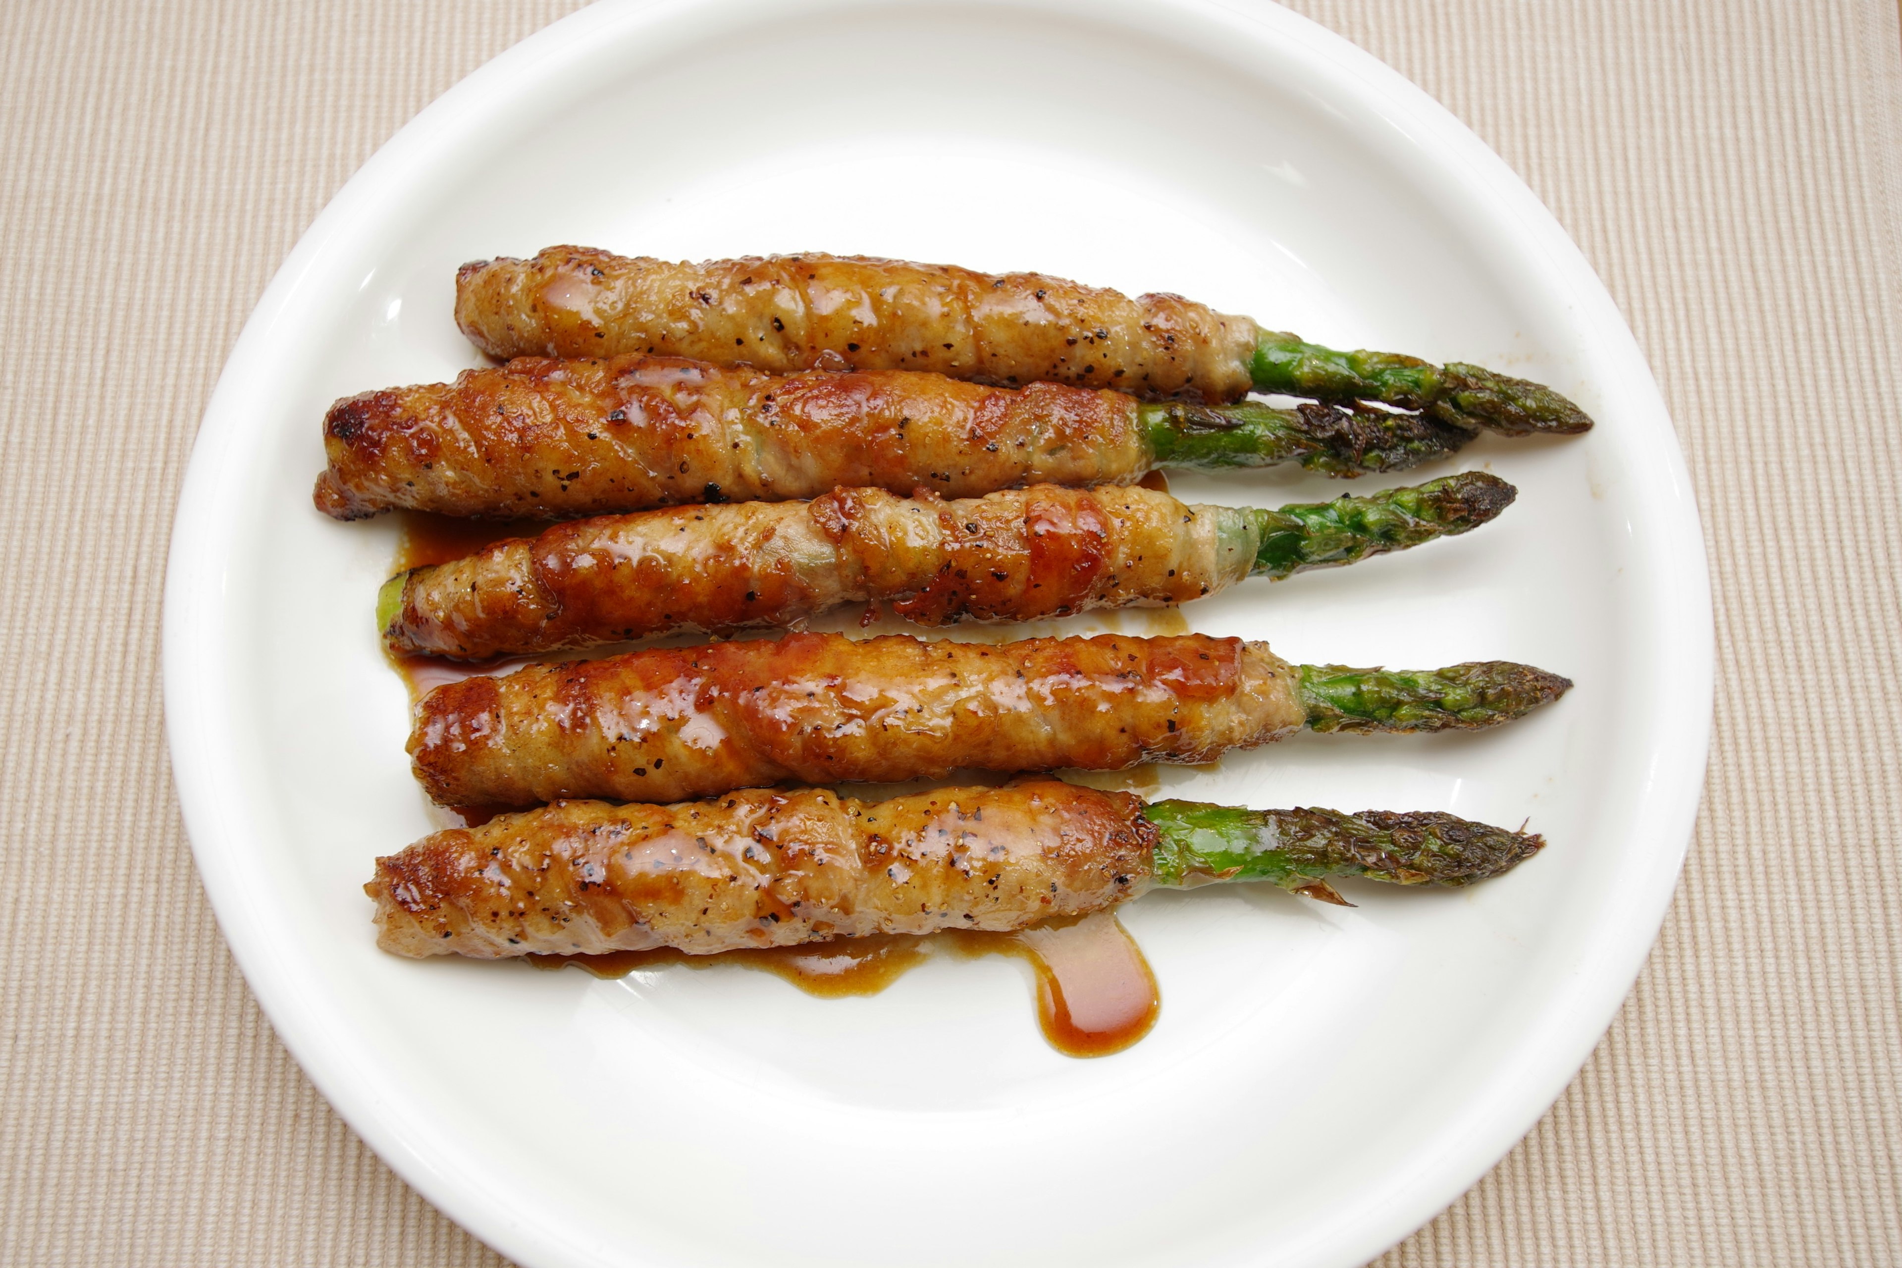
{"label": "beige ribbed textured placemat beneath the white plate", "polygon": [[[342,1127],[200,892],[173,498],[325,200],[567,0],[0,6],[0,1262],[495,1264]],[[1657,369],[1718,587],[1683,888],[1558,1106],[1383,1268],[1902,1262],[1892,0],[1303,0],[1552,205]]]}

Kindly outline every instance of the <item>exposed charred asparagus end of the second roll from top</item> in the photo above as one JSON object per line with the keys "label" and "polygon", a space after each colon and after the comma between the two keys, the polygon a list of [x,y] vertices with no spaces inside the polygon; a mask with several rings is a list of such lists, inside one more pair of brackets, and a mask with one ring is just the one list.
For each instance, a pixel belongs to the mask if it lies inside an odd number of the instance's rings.
{"label": "exposed charred asparagus end of the second roll from top", "polygon": [[1459,451],[1474,433],[1428,414],[1371,405],[1274,409],[1240,405],[1141,405],[1155,466],[1255,468],[1299,462],[1320,475],[1404,471]]}

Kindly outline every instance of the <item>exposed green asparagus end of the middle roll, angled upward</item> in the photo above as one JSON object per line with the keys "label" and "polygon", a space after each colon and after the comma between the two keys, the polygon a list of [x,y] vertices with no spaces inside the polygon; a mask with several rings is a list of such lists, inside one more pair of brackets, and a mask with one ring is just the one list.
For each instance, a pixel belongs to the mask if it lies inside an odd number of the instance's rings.
{"label": "exposed green asparagus end of the middle roll, angled upward", "polygon": [[1364,498],[1343,492],[1331,502],[1250,509],[1261,534],[1250,576],[1280,580],[1457,536],[1499,515],[1516,496],[1497,475],[1461,471]]}

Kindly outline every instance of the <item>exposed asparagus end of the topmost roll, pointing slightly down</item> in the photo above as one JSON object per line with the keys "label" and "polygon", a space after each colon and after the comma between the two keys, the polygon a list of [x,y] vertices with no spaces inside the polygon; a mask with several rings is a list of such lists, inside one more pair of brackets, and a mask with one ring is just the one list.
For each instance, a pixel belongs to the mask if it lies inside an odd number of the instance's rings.
{"label": "exposed asparagus end of the topmost roll, pointing slightly down", "polygon": [[1592,426],[1577,405],[1525,378],[1459,361],[1430,365],[1392,352],[1337,352],[1276,331],[1261,333],[1248,369],[1255,392],[1381,401],[1466,430],[1529,435],[1573,433]]}

